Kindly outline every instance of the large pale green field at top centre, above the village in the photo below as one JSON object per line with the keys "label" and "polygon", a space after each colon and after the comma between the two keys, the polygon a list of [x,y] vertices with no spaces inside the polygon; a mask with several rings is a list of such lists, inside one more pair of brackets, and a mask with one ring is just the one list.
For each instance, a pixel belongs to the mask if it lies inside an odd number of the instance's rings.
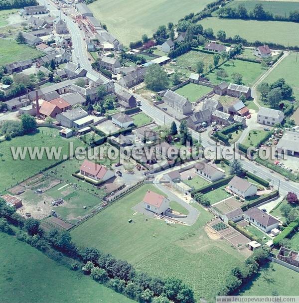
{"label": "large pale green field at top centre, above the village", "polygon": [[146,33],[149,37],[159,25],[176,23],[190,12],[198,12],[211,0],[97,0],[89,8],[94,16],[107,25],[124,45],[141,39]]}

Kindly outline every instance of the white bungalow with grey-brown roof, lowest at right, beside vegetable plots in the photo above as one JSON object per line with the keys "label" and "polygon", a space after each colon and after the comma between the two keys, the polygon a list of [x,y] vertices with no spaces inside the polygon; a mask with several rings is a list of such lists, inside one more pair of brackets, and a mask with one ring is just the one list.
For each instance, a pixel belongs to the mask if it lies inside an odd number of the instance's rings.
{"label": "white bungalow with grey-brown roof, lowest at right, beside vegetable plots", "polygon": [[246,210],[244,212],[244,219],[266,233],[271,231],[271,229],[278,228],[279,225],[279,220],[257,207]]}

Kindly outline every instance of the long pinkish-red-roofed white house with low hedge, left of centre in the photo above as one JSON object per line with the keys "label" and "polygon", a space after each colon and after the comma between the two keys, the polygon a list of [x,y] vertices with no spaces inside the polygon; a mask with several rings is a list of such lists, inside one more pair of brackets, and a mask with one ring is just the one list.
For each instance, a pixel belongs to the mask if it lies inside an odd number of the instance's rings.
{"label": "long pinkish-red-roofed white house with low hedge, left of centre", "polygon": [[114,172],[107,167],[91,162],[89,160],[84,160],[80,166],[80,173],[83,176],[92,178],[94,180],[107,181],[115,176]]}

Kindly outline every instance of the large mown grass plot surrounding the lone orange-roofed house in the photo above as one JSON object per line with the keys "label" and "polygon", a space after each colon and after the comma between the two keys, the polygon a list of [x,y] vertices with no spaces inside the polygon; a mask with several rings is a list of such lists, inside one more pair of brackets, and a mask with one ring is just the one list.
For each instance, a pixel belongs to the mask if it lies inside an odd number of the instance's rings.
{"label": "large mown grass plot surrounding the lone orange-roofed house", "polygon": [[244,256],[227,242],[206,235],[204,225],[212,215],[201,207],[192,226],[169,226],[137,213],[132,207],[142,201],[147,190],[159,192],[154,185],[143,185],[74,228],[72,239],[126,259],[151,275],[176,276],[193,287],[196,299],[215,296],[231,267]]}

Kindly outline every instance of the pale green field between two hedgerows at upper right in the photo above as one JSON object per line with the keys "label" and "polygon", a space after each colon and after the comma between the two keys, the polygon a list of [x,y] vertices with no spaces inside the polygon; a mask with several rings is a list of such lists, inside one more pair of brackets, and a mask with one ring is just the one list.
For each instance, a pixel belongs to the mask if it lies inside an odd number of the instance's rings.
{"label": "pale green field between two hedgerows at upper right", "polygon": [[214,33],[222,29],[226,32],[227,37],[240,35],[250,42],[259,40],[261,42],[280,43],[285,46],[288,46],[288,44],[290,46],[299,45],[299,36],[294,36],[294,32],[299,30],[299,23],[295,22],[218,19],[211,17],[205,18],[199,23],[203,28],[213,28]]}

